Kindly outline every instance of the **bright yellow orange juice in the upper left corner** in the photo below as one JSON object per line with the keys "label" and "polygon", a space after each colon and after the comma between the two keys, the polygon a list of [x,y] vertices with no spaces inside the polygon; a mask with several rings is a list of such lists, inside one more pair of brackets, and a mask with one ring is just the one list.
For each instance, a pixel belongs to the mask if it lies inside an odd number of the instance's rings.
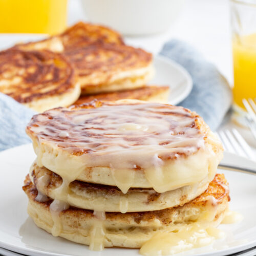
{"label": "bright yellow orange juice in the upper left corner", "polygon": [[0,0],[0,33],[59,33],[66,16],[67,0]]}

